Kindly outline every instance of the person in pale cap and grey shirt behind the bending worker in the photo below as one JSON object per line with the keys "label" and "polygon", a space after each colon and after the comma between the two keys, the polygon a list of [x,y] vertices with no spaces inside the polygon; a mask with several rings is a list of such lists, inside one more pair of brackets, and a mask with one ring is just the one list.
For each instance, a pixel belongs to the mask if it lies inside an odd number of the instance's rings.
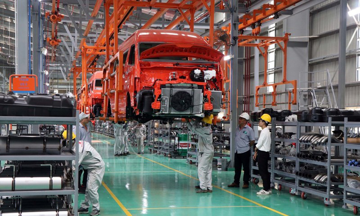
{"label": "person in pale cap and grey shirt behind the bending worker", "polygon": [[[89,119],[90,114],[85,114],[84,112],[79,114],[79,137],[78,140],[83,140],[91,144],[91,129],[93,124]],[[76,133],[76,127],[73,127],[73,133]],[[79,180],[81,179],[81,175],[84,172],[84,176],[82,177],[82,184],[79,181],[79,193],[85,194],[86,186],[87,186],[87,170],[80,167],[79,169]]]}

